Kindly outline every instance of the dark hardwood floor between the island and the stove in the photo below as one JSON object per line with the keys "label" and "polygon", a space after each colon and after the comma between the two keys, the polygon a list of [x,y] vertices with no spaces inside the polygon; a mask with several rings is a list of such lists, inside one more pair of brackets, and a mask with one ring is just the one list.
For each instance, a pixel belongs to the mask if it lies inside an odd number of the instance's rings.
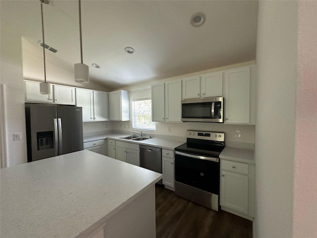
{"label": "dark hardwood floor between the island and the stove", "polygon": [[156,185],[157,238],[252,238],[252,222],[178,197]]}

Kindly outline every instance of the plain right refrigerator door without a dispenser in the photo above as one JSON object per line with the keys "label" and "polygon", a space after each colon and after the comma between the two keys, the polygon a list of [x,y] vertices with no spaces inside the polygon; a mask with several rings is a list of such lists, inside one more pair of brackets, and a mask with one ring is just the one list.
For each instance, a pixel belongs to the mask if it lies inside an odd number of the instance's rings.
{"label": "plain right refrigerator door without a dispenser", "polygon": [[84,149],[82,108],[57,106],[59,155]]}

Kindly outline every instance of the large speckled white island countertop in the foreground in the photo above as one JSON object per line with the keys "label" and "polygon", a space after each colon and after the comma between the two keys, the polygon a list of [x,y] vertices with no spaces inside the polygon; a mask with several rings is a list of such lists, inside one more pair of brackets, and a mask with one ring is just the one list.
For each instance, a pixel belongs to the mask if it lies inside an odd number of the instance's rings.
{"label": "large speckled white island countertop in the foreground", "polygon": [[0,172],[3,238],[87,237],[162,178],[88,150]]}

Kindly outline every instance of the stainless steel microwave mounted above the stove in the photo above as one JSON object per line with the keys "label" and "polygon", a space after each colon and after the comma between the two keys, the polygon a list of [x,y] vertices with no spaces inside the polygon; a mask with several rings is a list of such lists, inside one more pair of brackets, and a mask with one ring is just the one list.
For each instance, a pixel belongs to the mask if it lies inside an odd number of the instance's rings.
{"label": "stainless steel microwave mounted above the stove", "polygon": [[223,97],[183,100],[182,121],[223,122]]}

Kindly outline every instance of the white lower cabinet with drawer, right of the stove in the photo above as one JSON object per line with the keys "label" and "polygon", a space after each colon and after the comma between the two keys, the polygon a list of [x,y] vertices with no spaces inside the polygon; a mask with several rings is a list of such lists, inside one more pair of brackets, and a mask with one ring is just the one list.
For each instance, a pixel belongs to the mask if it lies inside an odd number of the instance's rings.
{"label": "white lower cabinet with drawer, right of the stove", "polygon": [[255,166],[221,159],[220,167],[221,209],[252,220]]}

